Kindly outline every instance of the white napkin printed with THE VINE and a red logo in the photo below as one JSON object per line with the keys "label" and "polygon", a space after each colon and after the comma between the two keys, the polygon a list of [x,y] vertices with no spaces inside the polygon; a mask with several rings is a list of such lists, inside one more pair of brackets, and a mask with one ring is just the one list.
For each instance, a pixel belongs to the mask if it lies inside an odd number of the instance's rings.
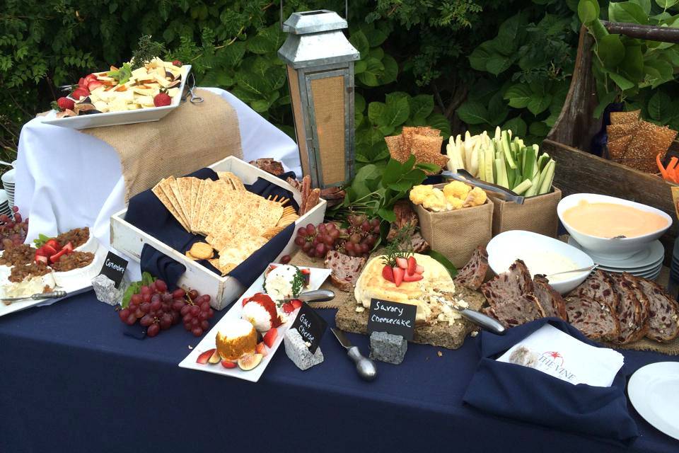
{"label": "white napkin printed with THE VINE and a red logo", "polygon": [[612,349],[590,346],[545,324],[497,360],[535,368],[574,385],[610,387],[625,357]]}

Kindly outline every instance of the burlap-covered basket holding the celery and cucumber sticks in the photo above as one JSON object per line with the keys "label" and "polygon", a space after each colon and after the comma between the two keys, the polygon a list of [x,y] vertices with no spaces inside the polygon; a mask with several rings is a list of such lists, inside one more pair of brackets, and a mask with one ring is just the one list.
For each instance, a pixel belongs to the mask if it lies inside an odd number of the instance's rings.
{"label": "burlap-covered basket holding the celery and cucumber sticks", "polygon": [[502,200],[498,195],[487,192],[494,205],[493,236],[504,231],[522,229],[533,233],[557,237],[559,217],[557,205],[561,201],[561,190],[554,188],[545,195],[526,198],[523,205]]}

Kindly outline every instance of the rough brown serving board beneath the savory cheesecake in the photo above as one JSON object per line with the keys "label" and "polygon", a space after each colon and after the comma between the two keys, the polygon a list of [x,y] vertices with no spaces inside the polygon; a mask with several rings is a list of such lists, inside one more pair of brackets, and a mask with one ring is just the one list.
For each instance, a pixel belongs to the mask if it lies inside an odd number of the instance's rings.
{"label": "rough brown serving board beneath the savory cheesecake", "polygon": [[[459,294],[469,304],[469,308],[478,310],[486,302],[486,298],[480,292],[471,291],[461,285],[455,285],[455,292]],[[353,303],[342,304],[335,315],[335,324],[342,331],[361,333],[368,335],[368,309],[361,313],[356,312],[356,301],[351,297]],[[413,343],[422,345],[439,346],[441,348],[457,349],[462,346],[465,337],[472,331],[477,330],[477,326],[466,319],[457,319],[452,326],[447,322],[437,323],[433,326],[422,326],[415,328]]]}

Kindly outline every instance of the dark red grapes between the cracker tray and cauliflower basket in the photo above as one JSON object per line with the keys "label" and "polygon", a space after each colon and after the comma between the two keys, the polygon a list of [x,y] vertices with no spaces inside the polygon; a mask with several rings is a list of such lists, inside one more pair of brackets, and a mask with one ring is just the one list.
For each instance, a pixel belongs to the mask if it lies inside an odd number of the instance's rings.
{"label": "dark red grapes between the cracker tray and cauliflower basket", "polygon": [[380,237],[380,220],[368,221],[365,214],[355,214],[347,217],[347,221],[347,228],[340,228],[335,222],[303,226],[297,230],[295,243],[312,258],[322,258],[331,250],[349,256],[368,256]]}

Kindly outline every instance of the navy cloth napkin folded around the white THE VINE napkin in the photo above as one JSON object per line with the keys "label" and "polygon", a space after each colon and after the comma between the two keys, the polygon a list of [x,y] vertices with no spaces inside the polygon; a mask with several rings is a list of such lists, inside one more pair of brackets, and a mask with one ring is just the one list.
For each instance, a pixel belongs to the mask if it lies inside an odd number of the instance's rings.
{"label": "navy cloth napkin folded around the white THE VINE napkin", "polygon": [[547,322],[588,345],[598,346],[556,318],[513,327],[504,336],[481,331],[476,339],[481,361],[463,401],[501,417],[591,435],[615,445],[631,445],[639,431],[627,411],[624,365],[612,386],[596,387],[573,385],[537,369],[495,360]]}

